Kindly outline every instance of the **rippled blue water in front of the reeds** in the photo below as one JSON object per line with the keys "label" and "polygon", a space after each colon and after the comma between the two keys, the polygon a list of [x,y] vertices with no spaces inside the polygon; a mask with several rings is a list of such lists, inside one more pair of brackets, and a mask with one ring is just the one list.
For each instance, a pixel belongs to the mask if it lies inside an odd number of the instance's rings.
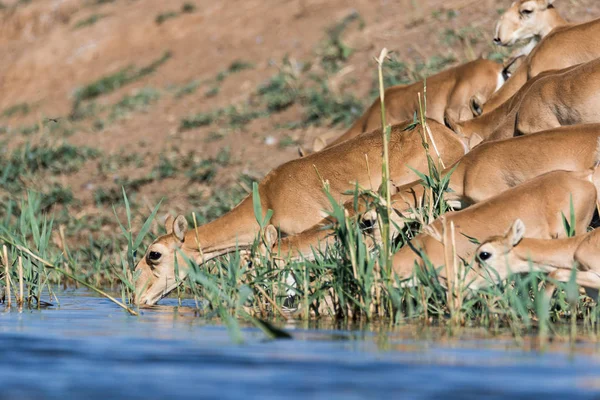
{"label": "rippled blue water in front of the reeds", "polygon": [[235,345],[168,300],[136,318],[85,292],[59,299],[0,313],[0,399],[600,398],[595,344],[539,353],[478,332],[288,327],[294,340],[245,328]]}

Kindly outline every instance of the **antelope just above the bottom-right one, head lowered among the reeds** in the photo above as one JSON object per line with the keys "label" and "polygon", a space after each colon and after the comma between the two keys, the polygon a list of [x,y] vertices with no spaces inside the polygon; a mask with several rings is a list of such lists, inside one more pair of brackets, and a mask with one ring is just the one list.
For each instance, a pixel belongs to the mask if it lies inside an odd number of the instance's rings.
{"label": "antelope just above the bottom-right one, head lowered among the reeds", "polygon": [[[478,246],[468,237],[483,241],[504,234],[517,218],[528,226],[528,237],[565,237],[562,215],[569,215],[571,200],[577,231],[585,232],[597,198],[596,187],[590,182],[591,174],[591,170],[550,172],[465,210],[447,213],[444,217],[448,226],[454,223],[456,228],[457,256],[471,263]],[[441,234],[442,221],[436,220],[429,229]],[[421,234],[394,255],[394,271],[399,278],[412,276],[415,265],[424,266],[421,254],[426,254],[436,267],[445,265],[444,244],[433,236]],[[440,276],[445,278],[445,275],[442,268]]]}

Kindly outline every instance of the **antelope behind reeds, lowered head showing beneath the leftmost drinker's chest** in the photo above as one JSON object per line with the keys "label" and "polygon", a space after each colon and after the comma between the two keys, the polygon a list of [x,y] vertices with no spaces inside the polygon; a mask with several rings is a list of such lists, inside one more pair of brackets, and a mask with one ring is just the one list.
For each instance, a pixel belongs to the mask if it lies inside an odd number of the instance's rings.
{"label": "antelope behind reeds, lowered head showing beneath the leftmost drinker's chest", "polygon": [[[600,124],[593,124],[484,143],[444,171],[453,170],[446,201],[464,208],[554,170],[587,171],[600,160],[598,138]],[[410,217],[411,211],[421,206],[424,187],[414,181],[396,190],[392,206],[401,228],[404,223],[400,216]],[[359,212],[366,211],[363,205],[359,202]],[[354,213],[352,203],[346,208]],[[331,224],[323,220],[307,231],[283,238],[275,248],[284,256],[312,259],[313,250],[323,251],[335,242],[333,231],[324,229]]]}

